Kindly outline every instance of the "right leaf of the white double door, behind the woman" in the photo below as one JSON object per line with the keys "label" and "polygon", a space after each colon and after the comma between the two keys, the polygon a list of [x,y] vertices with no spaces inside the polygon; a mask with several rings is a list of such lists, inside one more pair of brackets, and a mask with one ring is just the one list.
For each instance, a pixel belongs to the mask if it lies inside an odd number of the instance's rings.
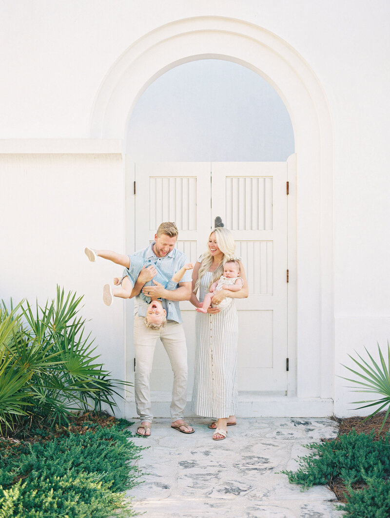
{"label": "right leaf of the white double door, behind the woman", "polygon": [[239,390],[287,389],[287,163],[212,162],[211,219],[233,232],[249,298],[239,315]]}

